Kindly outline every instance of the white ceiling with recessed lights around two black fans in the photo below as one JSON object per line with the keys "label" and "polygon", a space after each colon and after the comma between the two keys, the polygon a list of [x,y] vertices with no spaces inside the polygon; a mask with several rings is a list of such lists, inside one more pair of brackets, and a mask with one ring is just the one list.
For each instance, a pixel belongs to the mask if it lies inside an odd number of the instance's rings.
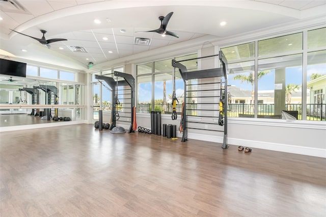
{"label": "white ceiling with recessed lights around two black fans", "polygon": [[[12,3],[23,9],[15,8]],[[100,64],[200,37],[222,39],[326,15],[323,0],[0,0],[0,8],[0,57],[12,56],[76,70],[86,70],[89,62]],[[179,38],[135,33],[158,29],[158,17],[172,11],[167,30],[177,33]],[[101,23],[95,24],[94,19]],[[221,21],[227,24],[220,26]],[[48,49],[9,29],[36,38],[42,37],[40,30],[46,30],[46,39],[68,40],[51,43]],[[120,32],[122,29],[125,33]],[[134,44],[136,37],[149,38],[151,43]],[[72,52],[69,46],[85,47],[88,52]]]}

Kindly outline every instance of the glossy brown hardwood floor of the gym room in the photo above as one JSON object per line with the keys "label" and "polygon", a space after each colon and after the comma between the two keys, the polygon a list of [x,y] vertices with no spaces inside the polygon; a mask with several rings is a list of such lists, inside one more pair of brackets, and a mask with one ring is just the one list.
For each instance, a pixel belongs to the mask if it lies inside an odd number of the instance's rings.
{"label": "glossy brown hardwood floor of the gym room", "polygon": [[0,133],[0,215],[325,216],[326,159],[93,125]]}

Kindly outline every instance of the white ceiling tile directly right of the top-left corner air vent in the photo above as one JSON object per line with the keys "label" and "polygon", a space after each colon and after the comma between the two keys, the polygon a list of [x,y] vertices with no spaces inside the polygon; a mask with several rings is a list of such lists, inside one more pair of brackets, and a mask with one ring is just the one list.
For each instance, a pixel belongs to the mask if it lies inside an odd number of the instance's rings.
{"label": "white ceiling tile directly right of the top-left corner air vent", "polygon": [[47,1],[19,0],[19,3],[35,16],[54,11]]}

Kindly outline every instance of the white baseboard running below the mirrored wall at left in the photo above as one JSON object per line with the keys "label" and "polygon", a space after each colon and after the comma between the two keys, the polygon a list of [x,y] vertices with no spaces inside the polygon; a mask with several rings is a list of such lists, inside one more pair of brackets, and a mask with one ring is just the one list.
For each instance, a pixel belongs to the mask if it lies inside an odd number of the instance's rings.
{"label": "white baseboard running below the mirrored wall at left", "polygon": [[87,121],[60,121],[56,123],[44,123],[44,124],[30,124],[30,125],[20,125],[20,126],[8,126],[0,127],[0,132],[13,131],[13,130],[24,130],[24,129],[37,129],[44,127],[56,127],[74,124],[87,124]]}

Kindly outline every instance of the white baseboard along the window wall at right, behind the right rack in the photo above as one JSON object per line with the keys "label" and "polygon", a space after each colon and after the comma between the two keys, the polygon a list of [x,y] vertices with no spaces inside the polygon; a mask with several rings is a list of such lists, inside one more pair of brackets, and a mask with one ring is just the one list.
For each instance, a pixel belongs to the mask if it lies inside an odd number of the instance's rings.
{"label": "white baseboard along the window wall at right, behind the right rack", "polygon": [[[178,137],[182,137],[181,133],[177,133],[177,134]],[[188,139],[223,143],[223,137],[219,137],[216,135],[202,135],[197,133],[188,133]],[[287,144],[279,144],[279,143],[269,143],[269,142],[253,141],[253,140],[242,140],[242,139],[235,139],[235,138],[228,138],[228,144],[326,158],[326,149],[321,149],[321,148],[295,146],[295,145],[287,145]]]}

